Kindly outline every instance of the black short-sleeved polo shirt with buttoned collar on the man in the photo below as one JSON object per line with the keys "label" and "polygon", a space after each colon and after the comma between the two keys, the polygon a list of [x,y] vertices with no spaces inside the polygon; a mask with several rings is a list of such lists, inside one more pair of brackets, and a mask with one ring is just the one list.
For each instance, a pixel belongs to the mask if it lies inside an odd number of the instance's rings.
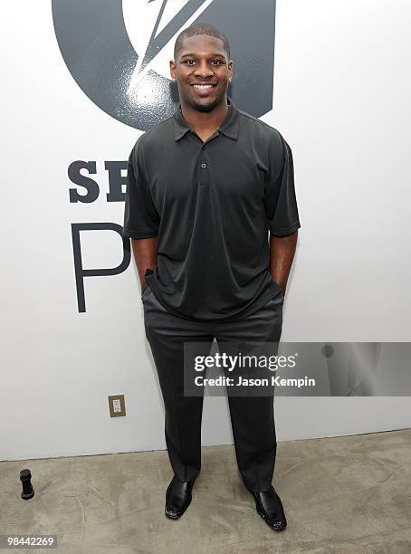
{"label": "black short-sleeved polo shirt with buttoned collar on the man", "polygon": [[142,134],[128,164],[124,236],[158,237],[146,281],[175,315],[240,320],[281,289],[270,274],[269,230],[301,225],[292,150],[278,130],[238,110],[203,142],[178,104]]}

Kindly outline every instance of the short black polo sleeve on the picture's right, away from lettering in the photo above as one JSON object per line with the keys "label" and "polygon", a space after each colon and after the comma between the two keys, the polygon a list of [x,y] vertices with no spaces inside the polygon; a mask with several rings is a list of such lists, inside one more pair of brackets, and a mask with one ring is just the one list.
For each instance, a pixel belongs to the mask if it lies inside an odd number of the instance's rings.
{"label": "short black polo sleeve on the picture's right, away from lettering", "polygon": [[[277,131],[278,133],[278,131]],[[264,206],[272,234],[285,236],[301,227],[294,187],[292,149],[278,133],[272,140]]]}

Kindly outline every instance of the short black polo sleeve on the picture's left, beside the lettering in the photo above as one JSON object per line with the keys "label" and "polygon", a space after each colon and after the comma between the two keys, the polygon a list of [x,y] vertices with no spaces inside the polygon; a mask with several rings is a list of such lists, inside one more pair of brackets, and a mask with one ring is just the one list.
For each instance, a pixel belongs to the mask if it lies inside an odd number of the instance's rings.
{"label": "short black polo sleeve on the picture's left, beside the lettering", "polygon": [[148,188],[140,138],[127,164],[123,236],[149,238],[158,235],[160,217]]}

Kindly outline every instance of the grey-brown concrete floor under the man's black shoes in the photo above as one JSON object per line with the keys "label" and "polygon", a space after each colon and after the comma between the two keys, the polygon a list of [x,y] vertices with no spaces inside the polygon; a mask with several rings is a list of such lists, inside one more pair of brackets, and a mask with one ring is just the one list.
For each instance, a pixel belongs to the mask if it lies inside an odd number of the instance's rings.
{"label": "grey-brown concrete floor under the man's black shoes", "polygon": [[[20,498],[24,468],[29,501]],[[55,534],[57,551],[70,553],[411,552],[411,429],[279,443],[282,532],[257,515],[233,446],[203,448],[193,501],[177,521],[164,516],[171,477],[166,451],[3,462],[0,534]]]}

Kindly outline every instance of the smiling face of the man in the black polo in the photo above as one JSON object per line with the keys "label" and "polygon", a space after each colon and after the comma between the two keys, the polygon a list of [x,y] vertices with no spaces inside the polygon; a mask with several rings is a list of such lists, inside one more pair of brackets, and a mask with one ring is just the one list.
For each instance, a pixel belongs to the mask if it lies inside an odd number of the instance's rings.
{"label": "smiling face of the man in the black polo", "polygon": [[181,103],[198,111],[211,111],[226,103],[232,66],[221,39],[208,34],[187,36],[177,60],[170,62]]}

